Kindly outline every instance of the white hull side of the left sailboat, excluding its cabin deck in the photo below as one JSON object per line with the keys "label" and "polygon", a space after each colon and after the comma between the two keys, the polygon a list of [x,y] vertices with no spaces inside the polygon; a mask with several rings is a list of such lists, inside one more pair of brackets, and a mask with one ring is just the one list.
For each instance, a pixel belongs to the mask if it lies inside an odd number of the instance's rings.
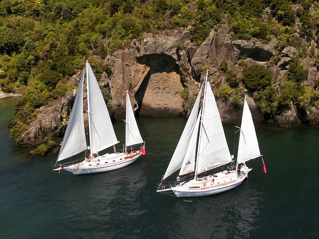
{"label": "white hull side of the left sailboat, excluding its cabin deck", "polygon": [[[102,173],[102,172],[107,172],[107,171],[112,171],[116,169],[123,168],[125,166],[128,166],[132,163],[134,163],[141,154],[138,154],[136,156],[133,156],[132,158],[126,159],[125,161],[121,162],[116,162],[112,164],[106,164],[102,166],[93,166],[93,167],[76,167],[75,164],[68,166],[68,167],[63,167],[63,170],[69,171],[73,173],[74,175],[81,175],[81,174],[91,174],[91,173]],[[103,162],[103,161],[100,161]]]}

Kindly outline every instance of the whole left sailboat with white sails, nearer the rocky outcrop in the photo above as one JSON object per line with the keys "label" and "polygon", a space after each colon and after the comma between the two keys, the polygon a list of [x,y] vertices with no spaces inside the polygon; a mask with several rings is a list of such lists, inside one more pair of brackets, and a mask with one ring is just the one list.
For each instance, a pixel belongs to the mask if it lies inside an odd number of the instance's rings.
{"label": "whole left sailboat with white sails, nearer the rocky outcrop", "polygon": [[[116,151],[115,145],[120,141],[116,138],[108,108],[88,61],[86,61],[86,87],[90,145],[87,146],[83,117],[84,75],[83,70],[70,120],[56,160],[55,166],[60,167],[54,170],[59,170],[59,173],[61,169],[75,175],[115,170],[129,165],[141,155],[145,155],[145,142],[137,127],[128,91],[126,91],[125,150],[123,147],[122,152]],[[127,152],[128,147],[142,146],[143,143],[143,147],[140,147],[138,151],[131,147],[130,153]],[[99,155],[100,151],[110,147],[113,147],[114,153]],[[75,156],[86,149],[90,150],[88,158],[80,158],[67,163],[67,165],[58,164],[58,162]]]}

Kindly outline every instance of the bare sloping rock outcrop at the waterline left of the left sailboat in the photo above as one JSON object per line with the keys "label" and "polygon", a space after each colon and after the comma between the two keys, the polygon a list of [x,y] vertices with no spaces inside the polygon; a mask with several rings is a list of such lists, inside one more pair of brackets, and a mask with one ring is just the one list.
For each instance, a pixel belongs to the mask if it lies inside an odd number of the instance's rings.
{"label": "bare sloping rock outcrop at the waterline left of the left sailboat", "polygon": [[41,113],[30,125],[29,129],[24,132],[16,142],[17,146],[32,147],[39,145],[52,137],[60,138],[64,134],[67,121],[63,119],[70,114],[70,109],[74,103],[76,91],[66,92],[63,97],[56,99],[48,105],[41,107]]}

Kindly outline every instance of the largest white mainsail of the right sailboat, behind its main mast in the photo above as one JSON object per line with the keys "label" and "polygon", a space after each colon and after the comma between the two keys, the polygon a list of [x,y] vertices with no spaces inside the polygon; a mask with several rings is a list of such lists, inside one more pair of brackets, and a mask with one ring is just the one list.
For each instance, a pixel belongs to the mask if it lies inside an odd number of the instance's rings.
{"label": "largest white mainsail of the right sailboat, behind its main mast", "polygon": [[216,100],[206,82],[195,174],[232,162]]}

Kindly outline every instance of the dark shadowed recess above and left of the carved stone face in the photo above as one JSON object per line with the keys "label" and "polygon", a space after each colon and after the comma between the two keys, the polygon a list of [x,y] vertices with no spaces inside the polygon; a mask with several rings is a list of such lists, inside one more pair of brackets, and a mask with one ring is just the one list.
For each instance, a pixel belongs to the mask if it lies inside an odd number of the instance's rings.
{"label": "dark shadowed recess above and left of the carved stone face", "polygon": [[[175,59],[168,54],[147,54],[136,57],[136,60],[139,64],[146,65],[150,68],[134,95],[134,98],[138,105],[138,108],[135,111],[135,113],[137,116],[139,116],[139,111],[143,103],[146,87],[149,83],[152,74],[163,72],[176,72],[176,74],[180,75],[180,69]],[[183,83],[182,85],[184,86]]]}

